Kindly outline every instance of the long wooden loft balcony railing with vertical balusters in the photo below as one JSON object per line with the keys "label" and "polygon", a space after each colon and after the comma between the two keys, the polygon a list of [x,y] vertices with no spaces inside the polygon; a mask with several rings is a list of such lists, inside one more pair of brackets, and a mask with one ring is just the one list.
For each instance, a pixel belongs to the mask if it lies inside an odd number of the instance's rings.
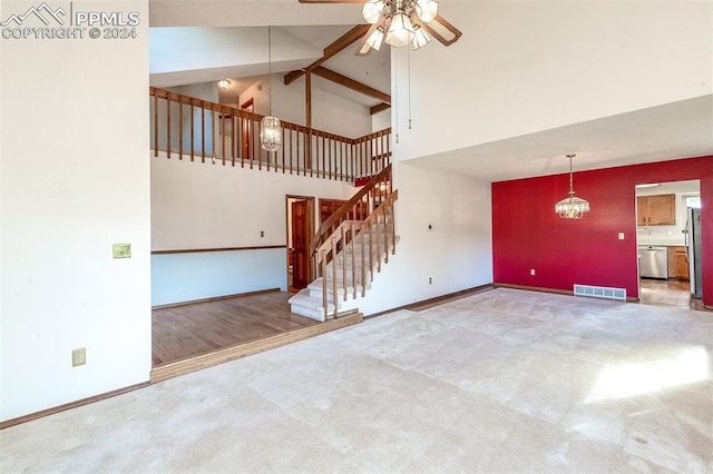
{"label": "long wooden loft balcony railing with vertical balusters", "polygon": [[235,107],[149,88],[154,156],[201,160],[354,182],[391,162],[391,129],[359,138],[282,122],[282,147],[260,144],[263,116]]}

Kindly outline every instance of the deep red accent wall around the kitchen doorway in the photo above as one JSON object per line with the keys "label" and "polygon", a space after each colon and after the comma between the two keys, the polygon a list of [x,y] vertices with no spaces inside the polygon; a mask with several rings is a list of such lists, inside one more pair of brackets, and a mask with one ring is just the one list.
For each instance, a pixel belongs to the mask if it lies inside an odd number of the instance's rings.
{"label": "deep red accent wall around the kitchen doorway", "polygon": [[703,304],[713,306],[713,156],[575,171],[575,191],[592,209],[580,220],[555,214],[568,174],[494,182],[495,283],[569,292],[578,283],[637,297],[635,185],[688,179],[701,180]]}

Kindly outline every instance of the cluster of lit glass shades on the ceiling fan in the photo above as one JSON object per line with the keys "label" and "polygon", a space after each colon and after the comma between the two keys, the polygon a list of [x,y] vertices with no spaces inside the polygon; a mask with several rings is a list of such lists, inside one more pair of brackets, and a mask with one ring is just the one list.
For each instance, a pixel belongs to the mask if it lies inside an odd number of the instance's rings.
{"label": "cluster of lit glass shades on the ceiling fan", "polygon": [[438,16],[436,0],[371,0],[364,3],[362,14],[367,22],[377,26],[364,46],[377,51],[385,41],[393,47],[412,45],[424,47],[431,37],[422,28]]}

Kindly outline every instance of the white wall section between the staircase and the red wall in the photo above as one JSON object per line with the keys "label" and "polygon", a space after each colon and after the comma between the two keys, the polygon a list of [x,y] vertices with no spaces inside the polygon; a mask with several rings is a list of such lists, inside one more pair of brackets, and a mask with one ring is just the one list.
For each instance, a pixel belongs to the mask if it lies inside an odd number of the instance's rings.
{"label": "white wall section between the staircase and the red wall", "polygon": [[490,185],[408,162],[395,174],[401,240],[359,309],[370,315],[492,283]]}

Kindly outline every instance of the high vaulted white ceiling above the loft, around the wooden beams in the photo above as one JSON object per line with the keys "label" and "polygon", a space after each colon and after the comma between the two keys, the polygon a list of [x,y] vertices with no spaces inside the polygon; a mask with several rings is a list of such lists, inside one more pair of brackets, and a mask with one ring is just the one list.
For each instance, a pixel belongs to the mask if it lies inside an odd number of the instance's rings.
{"label": "high vaulted white ceiling above the loft, around the wooden beams", "polygon": [[[152,0],[152,38],[162,41],[152,42],[150,81],[153,86],[172,87],[227,78],[231,80],[229,93],[234,97],[254,83],[257,77],[267,73],[268,68],[273,73],[306,68],[323,56],[325,47],[359,23],[363,23],[361,7],[354,3],[312,6],[296,0]],[[272,27],[271,65],[264,53],[267,46],[264,27]],[[203,46],[199,46],[201,41]],[[260,45],[255,45],[256,41]],[[176,42],[185,45],[176,48]],[[160,43],[169,45],[172,51],[157,50]],[[235,45],[241,45],[241,48]],[[262,49],[255,50],[252,57],[245,55],[246,50],[257,47]],[[332,78],[345,77],[363,86],[364,90],[389,95],[389,49],[382,48],[358,58],[353,55],[355,48],[356,43],[350,45],[330,57],[321,65],[322,68],[335,72]],[[192,55],[196,56],[193,62]],[[367,107],[383,101],[373,93],[359,92],[325,79],[324,69],[321,75],[314,75],[314,88]]]}

